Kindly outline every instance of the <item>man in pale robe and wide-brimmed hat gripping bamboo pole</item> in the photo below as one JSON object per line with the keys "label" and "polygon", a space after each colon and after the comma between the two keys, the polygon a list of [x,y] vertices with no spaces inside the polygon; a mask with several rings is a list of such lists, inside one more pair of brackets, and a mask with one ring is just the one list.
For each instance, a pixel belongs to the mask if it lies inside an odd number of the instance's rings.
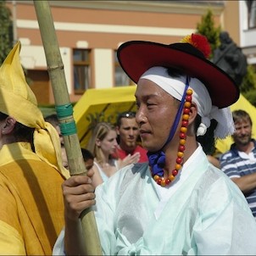
{"label": "man in pale robe and wide-brimmed hat gripping bamboo pole", "polygon": [[194,34],[119,48],[137,83],[136,122],[149,163],[126,166],[95,194],[92,173],[64,181],[65,229],[54,254],[86,252],[79,215],[91,206],[105,255],[256,254],[246,199],[206,157],[214,137],[234,132],[228,106],[239,97],[207,53],[206,38]]}

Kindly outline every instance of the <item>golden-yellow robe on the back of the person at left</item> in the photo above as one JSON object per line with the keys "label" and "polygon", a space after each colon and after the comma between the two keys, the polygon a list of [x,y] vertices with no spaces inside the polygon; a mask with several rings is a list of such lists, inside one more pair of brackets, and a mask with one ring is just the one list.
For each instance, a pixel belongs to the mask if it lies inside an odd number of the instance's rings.
{"label": "golden-yellow robe on the back of the person at left", "polygon": [[51,255],[64,226],[58,170],[39,159],[28,143],[0,150],[0,254]]}

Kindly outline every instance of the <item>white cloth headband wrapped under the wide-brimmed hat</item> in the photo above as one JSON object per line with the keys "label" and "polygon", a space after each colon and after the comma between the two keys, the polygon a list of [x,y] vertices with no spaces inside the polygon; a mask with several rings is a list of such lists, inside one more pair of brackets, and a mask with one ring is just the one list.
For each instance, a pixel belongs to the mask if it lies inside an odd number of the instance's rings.
{"label": "white cloth headband wrapped under the wide-brimmed hat", "polygon": [[[153,67],[147,70],[140,79],[153,81],[172,97],[181,101],[186,86],[186,76],[172,78],[168,75],[164,67]],[[234,131],[234,124],[231,109],[218,109],[212,105],[211,97],[206,87],[197,78],[191,78],[189,88],[192,89],[192,102],[198,106],[198,114],[201,116],[201,124],[198,127],[197,136],[203,136],[209,128],[210,120],[214,119],[218,125],[214,131],[214,136],[225,138]]]}

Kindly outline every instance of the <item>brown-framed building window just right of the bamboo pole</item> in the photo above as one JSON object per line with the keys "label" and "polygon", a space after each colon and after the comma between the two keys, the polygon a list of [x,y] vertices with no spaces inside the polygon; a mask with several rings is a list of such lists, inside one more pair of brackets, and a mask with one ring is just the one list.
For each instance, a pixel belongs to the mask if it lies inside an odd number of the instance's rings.
{"label": "brown-framed building window just right of the bamboo pole", "polygon": [[75,94],[82,94],[91,87],[90,53],[87,49],[73,50]]}

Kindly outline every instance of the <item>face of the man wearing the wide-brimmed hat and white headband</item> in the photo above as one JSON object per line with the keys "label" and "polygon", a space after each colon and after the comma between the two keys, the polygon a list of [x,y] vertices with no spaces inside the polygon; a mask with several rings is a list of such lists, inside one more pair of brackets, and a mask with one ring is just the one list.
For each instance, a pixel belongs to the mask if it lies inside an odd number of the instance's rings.
{"label": "face of the man wearing the wide-brimmed hat and white headband", "polygon": [[[166,142],[178,110],[177,101],[153,81],[141,79],[136,87],[136,122],[139,125],[142,146],[157,152]],[[167,145],[177,147],[179,130]]]}

